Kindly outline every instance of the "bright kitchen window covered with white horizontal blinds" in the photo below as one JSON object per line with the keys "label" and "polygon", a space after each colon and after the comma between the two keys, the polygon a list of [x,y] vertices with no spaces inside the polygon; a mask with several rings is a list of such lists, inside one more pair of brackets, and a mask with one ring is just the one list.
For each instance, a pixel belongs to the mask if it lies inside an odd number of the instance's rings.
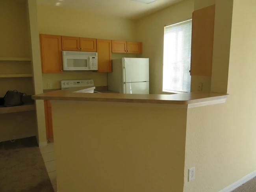
{"label": "bright kitchen window covered with white horizontal blinds", "polygon": [[190,92],[192,19],[165,27],[163,91]]}

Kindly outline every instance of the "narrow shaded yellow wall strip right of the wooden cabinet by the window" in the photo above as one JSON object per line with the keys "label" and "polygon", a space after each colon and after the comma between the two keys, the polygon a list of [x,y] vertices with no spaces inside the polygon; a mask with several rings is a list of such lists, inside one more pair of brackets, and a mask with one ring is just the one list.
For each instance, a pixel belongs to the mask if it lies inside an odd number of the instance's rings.
{"label": "narrow shaded yellow wall strip right of the wooden cabinet by the window", "polygon": [[[211,91],[227,92],[233,0],[216,4]],[[217,13],[218,12],[218,13]],[[225,16],[225,17],[224,17]]]}

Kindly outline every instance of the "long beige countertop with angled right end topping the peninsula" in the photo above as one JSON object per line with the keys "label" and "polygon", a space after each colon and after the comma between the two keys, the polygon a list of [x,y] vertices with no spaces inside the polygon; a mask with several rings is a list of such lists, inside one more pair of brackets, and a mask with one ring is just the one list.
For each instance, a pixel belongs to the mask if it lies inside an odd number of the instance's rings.
{"label": "long beige countertop with angled right end topping the peninsula", "polygon": [[190,92],[180,94],[119,94],[75,92],[88,87],[57,90],[32,96],[34,100],[66,100],[87,102],[155,103],[193,105],[191,107],[224,103],[228,94],[216,92]]}

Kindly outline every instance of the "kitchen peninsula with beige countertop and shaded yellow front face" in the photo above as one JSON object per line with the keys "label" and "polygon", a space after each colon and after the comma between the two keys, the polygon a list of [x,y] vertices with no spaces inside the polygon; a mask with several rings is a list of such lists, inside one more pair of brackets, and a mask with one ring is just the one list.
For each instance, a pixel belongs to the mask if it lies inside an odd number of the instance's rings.
{"label": "kitchen peninsula with beige countertop and shaded yellow front face", "polygon": [[76,92],[81,89],[32,97],[52,103],[60,192],[182,191],[187,108],[228,97]]}

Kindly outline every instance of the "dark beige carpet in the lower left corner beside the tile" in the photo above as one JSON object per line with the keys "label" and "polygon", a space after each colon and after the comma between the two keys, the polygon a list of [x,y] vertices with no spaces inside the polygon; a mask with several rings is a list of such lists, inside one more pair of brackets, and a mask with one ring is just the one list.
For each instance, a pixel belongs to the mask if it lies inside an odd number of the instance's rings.
{"label": "dark beige carpet in the lower left corner beside the tile", "polygon": [[35,137],[0,143],[0,192],[54,192]]}

